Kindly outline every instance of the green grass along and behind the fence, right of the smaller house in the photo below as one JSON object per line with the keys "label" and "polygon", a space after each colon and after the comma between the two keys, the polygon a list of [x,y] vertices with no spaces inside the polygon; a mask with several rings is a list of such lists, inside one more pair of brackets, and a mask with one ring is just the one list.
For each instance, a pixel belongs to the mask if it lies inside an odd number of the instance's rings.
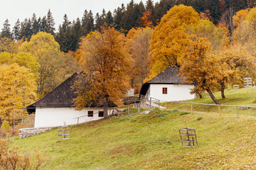
{"label": "green grass along and behind the fence, right of the smaller house", "polygon": [[[225,90],[225,97],[221,98],[220,91],[215,92],[214,96],[218,99],[220,104],[222,105],[236,105],[236,106],[256,106],[255,103],[255,89],[253,87],[243,88],[243,89],[227,89]],[[188,100],[186,102],[191,103],[207,103],[207,104],[215,104],[208,96],[208,94],[204,94],[203,98],[195,98],[192,100]],[[166,106],[166,103],[161,103],[162,106]],[[167,103],[167,108],[169,109],[177,109],[181,111],[191,111],[191,104],[186,103],[177,103],[177,108],[175,104],[172,102]],[[208,112],[208,113],[216,113],[218,114],[217,106],[202,106],[202,105],[193,105],[193,112]],[[236,107],[231,106],[221,106],[220,113],[225,113],[229,115],[236,116],[237,110]],[[238,115],[253,115],[256,116],[256,108],[249,108],[242,110],[238,107]]]}

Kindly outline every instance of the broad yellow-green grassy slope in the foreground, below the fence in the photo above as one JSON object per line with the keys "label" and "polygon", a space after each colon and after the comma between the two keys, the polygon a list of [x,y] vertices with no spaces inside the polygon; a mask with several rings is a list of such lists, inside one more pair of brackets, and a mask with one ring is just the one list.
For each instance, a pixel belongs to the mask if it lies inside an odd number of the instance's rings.
{"label": "broad yellow-green grassy slope in the foreground, below the fence", "polygon": [[[248,91],[227,91],[227,97],[246,97]],[[231,104],[228,98],[221,103]],[[249,103],[254,104],[253,98]],[[186,127],[196,128],[198,147],[181,146],[178,128]],[[13,140],[29,152],[38,147],[45,153],[49,162],[43,169],[254,169],[255,128],[256,117],[246,114],[155,110],[71,126],[70,140],[58,140],[56,129]]]}

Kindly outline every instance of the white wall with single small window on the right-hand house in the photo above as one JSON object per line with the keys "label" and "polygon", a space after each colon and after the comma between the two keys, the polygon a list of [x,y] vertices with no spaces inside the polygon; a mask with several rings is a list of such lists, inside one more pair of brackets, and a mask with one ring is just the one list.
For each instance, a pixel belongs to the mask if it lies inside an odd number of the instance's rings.
{"label": "white wall with single small window on the right-hand house", "polygon": [[[163,94],[163,87],[167,88],[167,94]],[[150,84],[146,95],[160,101],[183,101],[195,98],[190,94],[191,89],[193,85]]]}

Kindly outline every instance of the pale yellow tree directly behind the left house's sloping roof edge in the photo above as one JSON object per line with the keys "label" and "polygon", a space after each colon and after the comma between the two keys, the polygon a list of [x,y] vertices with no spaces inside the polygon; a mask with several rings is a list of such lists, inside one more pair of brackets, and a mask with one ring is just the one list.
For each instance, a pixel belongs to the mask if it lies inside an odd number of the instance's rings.
{"label": "pale yellow tree directly behind the left house's sloping roof edge", "polygon": [[41,66],[39,68],[39,78],[37,79],[38,94],[40,96],[53,90],[64,80],[65,56],[60,52],[60,45],[50,33],[40,32],[33,35],[29,42],[23,42],[18,51],[28,52],[36,57],[36,62]]}

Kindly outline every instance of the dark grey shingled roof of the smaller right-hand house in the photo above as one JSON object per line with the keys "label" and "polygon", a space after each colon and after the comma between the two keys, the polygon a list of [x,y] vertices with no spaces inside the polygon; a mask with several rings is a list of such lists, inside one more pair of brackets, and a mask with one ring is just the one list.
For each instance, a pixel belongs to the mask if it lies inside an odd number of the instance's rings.
{"label": "dark grey shingled roof of the smaller right-hand house", "polygon": [[147,81],[142,85],[142,89],[139,92],[139,96],[146,95],[146,91],[149,89],[149,84],[189,84],[185,81],[184,77],[178,77],[178,67],[167,67],[159,73],[156,77]]}

